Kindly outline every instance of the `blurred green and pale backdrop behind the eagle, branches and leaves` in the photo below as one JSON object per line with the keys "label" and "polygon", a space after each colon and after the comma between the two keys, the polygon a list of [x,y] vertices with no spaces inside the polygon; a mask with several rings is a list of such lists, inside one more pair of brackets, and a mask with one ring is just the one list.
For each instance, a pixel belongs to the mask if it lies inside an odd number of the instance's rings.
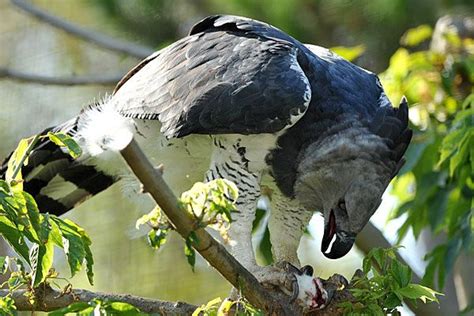
{"label": "blurred green and pale backdrop behind the eagle, branches and leaves", "polygon": [[[133,54],[106,49],[39,21],[17,5],[24,1],[14,2],[0,0],[0,157],[5,157],[20,138],[73,117],[83,106],[113,90],[112,84],[64,86],[12,80],[5,69],[48,77],[118,79],[140,60]],[[469,0],[41,0],[26,3],[79,25],[88,33],[106,34],[143,48],[141,51],[159,49],[185,36],[195,22],[207,15],[243,15],[271,23],[305,43],[325,47],[363,45],[364,53],[355,62],[376,73],[389,67],[390,57],[400,47],[400,38],[407,29],[420,24],[434,28],[436,21],[446,14],[472,17],[474,10]],[[417,47],[427,48],[427,43]],[[403,217],[387,222],[396,205],[397,199],[387,196],[374,217],[375,225],[391,241],[396,240],[397,229],[404,223]],[[71,280],[74,286],[194,304],[225,297],[230,286],[205,261],[198,260],[195,272],[191,271],[179,236],[172,234],[159,251],[147,245],[143,234],[135,229],[135,221],[148,211],[131,205],[121,197],[120,188],[114,186],[66,215],[84,227],[93,241],[95,284],[90,286],[85,275],[79,274]],[[336,262],[323,259],[319,251],[318,216],[312,223],[300,246],[303,263],[313,265],[315,272],[323,277],[338,272],[350,278],[361,266],[363,252],[354,249]],[[256,238],[260,239],[263,232],[258,230]],[[426,268],[423,256],[439,237],[433,237],[429,230],[423,231],[418,241],[411,231],[406,235],[402,253],[423,276]],[[0,252],[8,252],[5,244],[0,244]],[[56,261],[61,275],[68,277],[59,254]],[[474,279],[472,269],[469,273],[463,277]],[[469,297],[463,306],[459,305],[454,277],[448,278],[445,292],[449,296],[443,299],[445,302],[437,310],[439,314],[455,313],[467,306]]]}

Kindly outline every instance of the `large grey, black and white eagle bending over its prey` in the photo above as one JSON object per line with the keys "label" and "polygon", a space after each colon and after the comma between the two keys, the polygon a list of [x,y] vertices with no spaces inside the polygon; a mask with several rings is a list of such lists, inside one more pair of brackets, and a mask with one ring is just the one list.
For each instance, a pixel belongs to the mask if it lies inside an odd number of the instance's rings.
{"label": "large grey, black and white eagle bending over its prey", "polygon": [[[299,266],[296,250],[314,211],[324,216],[322,252],[340,258],[379,206],[412,135],[406,101],[392,107],[375,74],[266,23],[217,15],[142,61],[113,95],[47,129],[70,134],[83,155],[72,160],[42,140],[23,168],[24,189],[58,215],[118,180],[137,198],[137,181],[107,150],[128,142],[127,128],[165,165],[176,193],[203,179],[237,185],[231,251],[265,282],[284,272],[259,267],[252,250],[261,187],[273,189],[276,262]],[[321,307],[326,297],[313,284],[298,297]]]}

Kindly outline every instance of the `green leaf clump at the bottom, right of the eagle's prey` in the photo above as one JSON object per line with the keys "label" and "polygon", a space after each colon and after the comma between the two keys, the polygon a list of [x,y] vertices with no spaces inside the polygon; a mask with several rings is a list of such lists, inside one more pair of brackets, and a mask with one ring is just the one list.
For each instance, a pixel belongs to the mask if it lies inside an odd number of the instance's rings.
{"label": "green leaf clump at the bottom, right of the eagle's prey", "polygon": [[355,303],[342,303],[351,315],[396,314],[406,300],[438,302],[432,289],[411,283],[411,269],[396,257],[396,248],[372,249],[363,261],[363,271],[351,282]]}

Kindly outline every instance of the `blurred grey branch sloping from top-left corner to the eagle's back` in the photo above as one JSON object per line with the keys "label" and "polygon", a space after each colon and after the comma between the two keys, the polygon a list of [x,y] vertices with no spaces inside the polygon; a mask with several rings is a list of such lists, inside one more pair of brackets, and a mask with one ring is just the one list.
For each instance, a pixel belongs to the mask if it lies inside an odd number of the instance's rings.
{"label": "blurred grey branch sloping from top-left corner to the eagle's back", "polygon": [[42,22],[45,22],[55,28],[61,29],[69,34],[82,38],[83,40],[94,43],[101,47],[124,53],[138,59],[143,59],[155,51],[154,49],[147,46],[142,46],[123,40],[117,40],[107,35],[97,33],[96,31],[84,29],[76,24],[52,15],[51,13],[40,9],[28,1],[11,0],[11,3]]}

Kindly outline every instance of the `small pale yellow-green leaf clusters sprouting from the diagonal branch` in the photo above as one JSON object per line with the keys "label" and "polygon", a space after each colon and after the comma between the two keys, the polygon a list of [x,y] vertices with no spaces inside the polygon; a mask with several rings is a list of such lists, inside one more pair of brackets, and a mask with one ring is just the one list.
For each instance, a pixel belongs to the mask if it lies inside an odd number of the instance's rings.
{"label": "small pale yellow-green leaf clusters sprouting from the diagonal branch", "polygon": [[[181,194],[179,204],[196,220],[196,229],[211,226],[226,239],[237,197],[238,189],[234,183],[226,179],[215,179],[206,183],[195,183],[190,190]],[[136,227],[145,224],[151,228],[147,235],[148,243],[152,248],[159,249],[166,242],[168,232],[172,229],[159,206],[140,217]],[[184,254],[193,270],[196,263],[193,245],[198,243],[199,240],[193,231],[186,238],[184,245]]]}

